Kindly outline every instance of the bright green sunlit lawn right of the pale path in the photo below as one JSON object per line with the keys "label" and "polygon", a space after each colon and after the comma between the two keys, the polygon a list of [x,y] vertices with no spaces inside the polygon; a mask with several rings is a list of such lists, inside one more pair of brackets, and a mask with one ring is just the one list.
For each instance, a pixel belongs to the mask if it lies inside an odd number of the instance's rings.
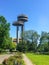
{"label": "bright green sunlit lawn right of the pale path", "polygon": [[33,53],[26,53],[26,55],[35,65],[49,65],[49,55],[36,55]]}

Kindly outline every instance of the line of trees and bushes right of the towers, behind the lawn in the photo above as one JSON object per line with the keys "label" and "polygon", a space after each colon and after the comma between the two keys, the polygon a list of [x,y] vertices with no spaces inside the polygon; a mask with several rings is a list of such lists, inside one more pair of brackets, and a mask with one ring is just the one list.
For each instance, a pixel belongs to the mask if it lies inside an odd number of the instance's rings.
{"label": "line of trees and bushes right of the towers, behind the lawn", "polygon": [[49,32],[42,32],[39,35],[36,31],[29,30],[24,31],[21,36],[24,42],[17,45],[17,50],[49,53]]}

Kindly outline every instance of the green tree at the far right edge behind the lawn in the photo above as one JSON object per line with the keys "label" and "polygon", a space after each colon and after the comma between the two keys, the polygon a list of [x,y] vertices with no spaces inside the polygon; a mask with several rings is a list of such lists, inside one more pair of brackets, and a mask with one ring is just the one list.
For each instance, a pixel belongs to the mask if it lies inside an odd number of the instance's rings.
{"label": "green tree at the far right edge behind the lawn", "polygon": [[47,32],[41,33],[39,50],[44,52],[49,51],[49,33]]}

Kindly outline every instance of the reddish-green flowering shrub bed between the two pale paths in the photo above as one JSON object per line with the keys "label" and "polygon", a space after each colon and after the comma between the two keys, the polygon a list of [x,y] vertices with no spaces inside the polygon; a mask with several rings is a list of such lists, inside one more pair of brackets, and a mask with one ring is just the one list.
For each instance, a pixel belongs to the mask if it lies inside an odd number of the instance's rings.
{"label": "reddish-green flowering shrub bed between the two pale paths", "polygon": [[3,65],[24,65],[24,62],[22,60],[22,54],[18,52],[14,56],[5,59],[3,61]]}

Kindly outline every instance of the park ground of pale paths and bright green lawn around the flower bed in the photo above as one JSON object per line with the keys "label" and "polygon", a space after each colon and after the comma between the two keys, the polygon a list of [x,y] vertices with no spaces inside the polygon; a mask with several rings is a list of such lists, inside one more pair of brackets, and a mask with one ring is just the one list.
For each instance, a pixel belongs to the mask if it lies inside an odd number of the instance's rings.
{"label": "park ground of pale paths and bright green lawn around the flower bed", "polygon": [[[0,55],[0,64],[5,58],[9,58],[13,54]],[[25,65],[49,65],[49,55],[37,55],[34,53],[25,53],[23,60]]]}

